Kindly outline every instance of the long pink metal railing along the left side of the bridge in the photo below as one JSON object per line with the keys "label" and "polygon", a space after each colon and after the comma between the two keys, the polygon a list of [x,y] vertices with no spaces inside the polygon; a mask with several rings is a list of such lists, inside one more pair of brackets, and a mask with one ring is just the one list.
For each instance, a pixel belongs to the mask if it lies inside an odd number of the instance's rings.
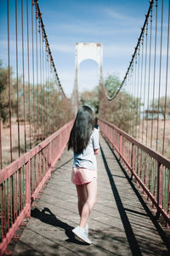
{"label": "long pink metal railing along the left side of the bridge", "polygon": [[0,171],[0,255],[24,218],[31,202],[51,177],[68,142],[72,121]]}

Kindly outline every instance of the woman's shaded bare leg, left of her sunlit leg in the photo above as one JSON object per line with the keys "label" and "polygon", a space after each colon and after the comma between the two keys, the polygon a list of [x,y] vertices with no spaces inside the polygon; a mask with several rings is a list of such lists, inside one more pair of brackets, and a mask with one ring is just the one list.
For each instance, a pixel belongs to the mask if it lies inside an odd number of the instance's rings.
{"label": "woman's shaded bare leg, left of her sunlit leg", "polygon": [[86,185],[77,185],[77,196],[78,196],[78,212],[81,217],[82,215],[82,207],[88,199],[88,193],[86,189]]}

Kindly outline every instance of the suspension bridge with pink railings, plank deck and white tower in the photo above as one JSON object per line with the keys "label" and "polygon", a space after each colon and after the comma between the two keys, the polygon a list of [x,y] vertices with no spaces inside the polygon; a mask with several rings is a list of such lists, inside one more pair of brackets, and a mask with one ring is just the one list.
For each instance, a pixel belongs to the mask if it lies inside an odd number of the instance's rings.
{"label": "suspension bridge with pink railings, plank deck and white tower", "polygon": [[[0,254],[169,255],[170,2],[150,1],[113,94],[102,79],[102,44],[77,44],[69,99],[38,1],[7,0],[7,22],[8,67],[0,67]],[[78,67],[86,58],[99,64],[99,196],[89,219],[90,246],[71,232],[79,217],[72,153],[65,150],[80,105]],[[115,116],[122,117],[116,125]]]}

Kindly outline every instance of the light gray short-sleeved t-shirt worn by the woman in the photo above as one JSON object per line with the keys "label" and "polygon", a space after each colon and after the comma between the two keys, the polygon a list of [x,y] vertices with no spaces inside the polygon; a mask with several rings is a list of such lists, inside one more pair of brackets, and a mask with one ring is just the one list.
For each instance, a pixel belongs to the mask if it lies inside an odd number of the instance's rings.
{"label": "light gray short-sleeved t-shirt worn by the woman", "polygon": [[94,149],[99,148],[99,130],[94,131],[89,139],[87,148],[83,149],[81,154],[74,154],[73,167],[82,167],[89,170],[97,170],[96,157]]}

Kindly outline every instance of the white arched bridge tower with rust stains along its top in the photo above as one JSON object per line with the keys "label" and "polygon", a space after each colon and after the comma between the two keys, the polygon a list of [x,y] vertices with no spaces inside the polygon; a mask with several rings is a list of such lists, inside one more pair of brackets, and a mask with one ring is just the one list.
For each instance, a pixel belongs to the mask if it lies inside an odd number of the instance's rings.
{"label": "white arched bridge tower with rust stains along its top", "polygon": [[77,43],[76,44],[76,55],[75,55],[75,64],[76,64],[76,75],[75,75],[75,84],[73,90],[73,106],[75,114],[77,113],[79,103],[78,103],[78,73],[79,66],[82,61],[93,60],[98,63],[99,66],[99,84],[102,83],[102,65],[103,65],[103,46],[102,44],[96,43]]}

